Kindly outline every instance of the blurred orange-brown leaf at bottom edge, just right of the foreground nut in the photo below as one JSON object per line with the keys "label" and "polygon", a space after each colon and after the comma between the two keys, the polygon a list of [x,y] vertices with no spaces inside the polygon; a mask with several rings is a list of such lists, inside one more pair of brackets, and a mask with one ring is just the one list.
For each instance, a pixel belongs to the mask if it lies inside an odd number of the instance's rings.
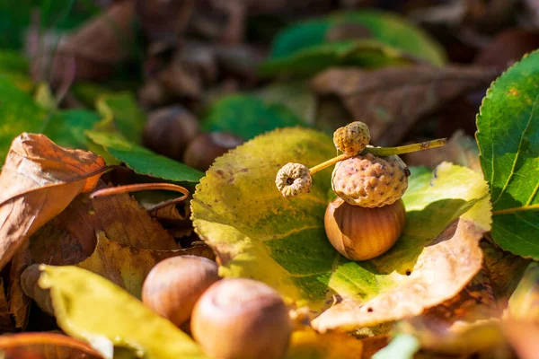
{"label": "blurred orange-brown leaf at bottom edge, just right of the foreground nut", "polygon": [[343,333],[316,333],[313,329],[292,333],[287,359],[358,359],[363,342]]}

